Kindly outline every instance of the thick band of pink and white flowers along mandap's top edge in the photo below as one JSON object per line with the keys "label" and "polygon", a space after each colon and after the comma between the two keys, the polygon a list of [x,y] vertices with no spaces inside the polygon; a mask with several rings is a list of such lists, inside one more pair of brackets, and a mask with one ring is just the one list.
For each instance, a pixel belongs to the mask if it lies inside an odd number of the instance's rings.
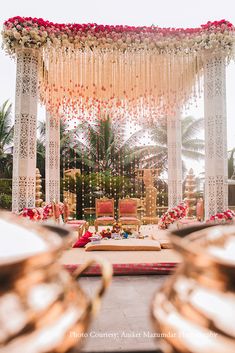
{"label": "thick band of pink and white flowers along mandap's top edge", "polygon": [[196,52],[221,49],[231,52],[234,26],[226,21],[207,22],[199,28],[160,28],[57,24],[42,18],[16,16],[4,22],[5,49],[15,53],[20,48],[101,48],[104,50],[157,50],[159,53]]}

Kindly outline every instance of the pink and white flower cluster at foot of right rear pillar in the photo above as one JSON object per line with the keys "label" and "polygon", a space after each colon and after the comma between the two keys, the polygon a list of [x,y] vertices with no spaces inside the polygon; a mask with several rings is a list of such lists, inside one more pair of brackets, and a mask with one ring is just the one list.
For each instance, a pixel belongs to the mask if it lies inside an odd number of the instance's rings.
{"label": "pink and white flower cluster at foot of right rear pillar", "polygon": [[158,222],[159,229],[167,229],[170,224],[186,217],[188,205],[185,202],[180,203],[178,206],[167,210]]}

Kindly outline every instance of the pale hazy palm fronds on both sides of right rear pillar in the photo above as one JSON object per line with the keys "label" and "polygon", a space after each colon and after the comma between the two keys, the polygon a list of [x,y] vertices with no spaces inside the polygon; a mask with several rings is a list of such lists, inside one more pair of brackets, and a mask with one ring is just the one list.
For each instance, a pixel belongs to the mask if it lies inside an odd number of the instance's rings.
{"label": "pale hazy palm fronds on both sides of right rear pillar", "polygon": [[[195,119],[187,116],[181,121],[182,157],[183,168],[185,159],[201,160],[204,158],[204,140],[198,138],[204,124],[204,119]],[[153,129],[148,129],[152,143],[149,146],[138,146],[133,152],[137,156],[143,156],[143,166],[146,168],[167,169],[167,124],[159,122]],[[143,131],[136,133],[136,137],[143,135]]]}

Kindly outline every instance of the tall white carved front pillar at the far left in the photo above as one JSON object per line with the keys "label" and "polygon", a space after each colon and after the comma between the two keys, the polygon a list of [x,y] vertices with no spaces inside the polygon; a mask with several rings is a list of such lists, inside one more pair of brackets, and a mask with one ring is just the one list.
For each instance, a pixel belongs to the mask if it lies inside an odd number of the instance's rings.
{"label": "tall white carved front pillar at the far left", "polygon": [[38,52],[17,52],[12,211],[35,206]]}

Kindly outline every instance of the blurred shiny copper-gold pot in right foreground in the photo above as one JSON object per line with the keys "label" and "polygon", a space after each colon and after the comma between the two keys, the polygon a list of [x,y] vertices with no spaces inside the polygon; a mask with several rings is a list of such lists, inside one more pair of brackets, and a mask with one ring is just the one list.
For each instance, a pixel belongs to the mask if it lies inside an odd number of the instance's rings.
{"label": "blurred shiny copper-gold pot in right foreground", "polygon": [[165,353],[235,352],[235,226],[172,233],[182,264],[152,304]]}

